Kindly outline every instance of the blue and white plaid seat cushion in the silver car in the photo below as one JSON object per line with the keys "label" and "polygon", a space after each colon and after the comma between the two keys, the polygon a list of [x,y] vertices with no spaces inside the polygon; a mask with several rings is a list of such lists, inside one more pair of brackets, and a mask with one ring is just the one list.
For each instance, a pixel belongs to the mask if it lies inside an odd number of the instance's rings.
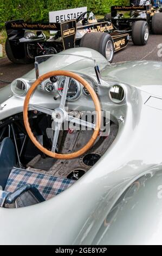
{"label": "blue and white plaid seat cushion in the silver car", "polygon": [[7,185],[5,186],[5,191],[14,192],[17,188],[20,188],[25,184],[33,184],[42,194],[44,199],[48,200],[66,190],[66,188],[71,186],[74,182],[74,180],[66,178],[59,178],[15,168],[11,170]]}

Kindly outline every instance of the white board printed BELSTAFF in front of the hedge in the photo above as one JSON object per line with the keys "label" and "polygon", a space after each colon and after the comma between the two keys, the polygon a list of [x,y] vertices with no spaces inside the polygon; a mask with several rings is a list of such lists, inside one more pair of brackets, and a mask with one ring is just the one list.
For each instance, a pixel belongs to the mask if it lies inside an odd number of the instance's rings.
{"label": "white board printed BELSTAFF in front of the hedge", "polygon": [[80,8],[60,10],[60,11],[50,11],[49,22],[63,22],[63,21],[75,20],[82,13],[85,13],[85,11],[87,11],[87,7],[80,7]]}

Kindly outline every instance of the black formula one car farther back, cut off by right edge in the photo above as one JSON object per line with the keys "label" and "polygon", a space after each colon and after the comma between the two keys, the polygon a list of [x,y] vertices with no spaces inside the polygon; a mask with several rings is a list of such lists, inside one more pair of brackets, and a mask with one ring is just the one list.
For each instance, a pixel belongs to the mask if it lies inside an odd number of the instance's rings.
{"label": "black formula one car farther back, cut off by right edge", "polygon": [[[142,3],[142,5],[140,5]],[[132,40],[135,45],[144,40],[137,34],[141,33],[140,26],[145,27],[145,38],[148,28],[153,34],[162,34],[162,8],[160,1],[131,0],[129,6],[112,6],[111,13],[105,15],[105,20],[111,21],[118,30],[132,29]],[[147,25],[146,25],[147,23]]]}

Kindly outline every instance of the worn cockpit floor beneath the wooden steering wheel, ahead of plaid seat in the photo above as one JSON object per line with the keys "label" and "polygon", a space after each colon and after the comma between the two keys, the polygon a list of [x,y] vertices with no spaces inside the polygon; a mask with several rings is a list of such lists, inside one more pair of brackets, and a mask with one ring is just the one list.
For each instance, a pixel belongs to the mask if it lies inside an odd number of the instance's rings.
{"label": "worn cockpit floor beneath the wooden steering wheel, ahead of plaid seat", "polygon": [[[61,147],[61,153],[69,153],[79,150],[88,142],[90,138],[89,132],[92,131],[74,131],[67,133],[64,138],[64,144]],[[41,172],[44,174],[54,175],[57,177],[67,178],[71,173],[81,170],[86,173],[94,164],[95,159],[100,159],[105,151],[111,146],[118,133],[118,125],[111,124],[109,135],[99,137],[94,146],[87,151],[86,154],[70,160],[57,160],[47,157],[43,159],[41,155],[37,155],[32,161],[27,164],[27,170]],[[86,156],[91,157],[92,161],[85,161]],[[89,164],[90,163],[90,164]]]}

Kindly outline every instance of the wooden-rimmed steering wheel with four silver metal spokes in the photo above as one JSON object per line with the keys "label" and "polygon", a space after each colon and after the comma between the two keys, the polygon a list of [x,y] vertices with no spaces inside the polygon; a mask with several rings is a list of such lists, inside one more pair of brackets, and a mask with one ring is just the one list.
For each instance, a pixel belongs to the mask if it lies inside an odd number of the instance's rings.
{"label": "wooden-rimmed steering wheel with four silver metal spokes", "polygon": [[[29,104],[30,97],[34,93],[34,90],[36,89],[36,87],[41,82],[43,82],[44,80],[46,80],[46,79],[48,79],[49,77],[52,77],[52,76],[65,76],[66,77],[65,82],[64,82],[64,87],[63,87],[61,100],[60,100],[60,106],[58,108],[52,110],[52,109],[48,109],[46,107]],[[96,111],[95,125],[92,124],[92,123],[88,123],[87,121],[84,121],[84,120],[81,120],[81,119],[78,119],[78,118],[74,118],[74,117],[68,115],[68,113],[65,111],[64,106],[65,106],[65,102],[66,102],[66,98],[67,98],[68,85],[69,85],[69,79],[70,78],[74,78],[76,81],[81,83],[83,85],[83,87],[85,87],[88,90],[90,96],[92,97],[92,100],[93,100],[94,105],[95,105],[95,111]],[[35,109],[35,110],[40,111],[42,113],[49,114],[49,115],[51,115],[51,118],[54,120],[54,122],[55,122],[55,133],[54,133],[53,146],[52,146],[51,151],[44,148],[37,141],[33,132],[31,131],[30,125],[29,125],[29,119],[28,119],[28,108]],[[56,118],[56,117],[58,117],[58,115],[61,115],[63,117],[60,122]],[[98,96],[95,94],[93,88],[86,82],[85,79],[83,79],[81,76],[79,76],[77,74],[74,74],[73,72],[64,71],[64,70],[57,70],[57,71],[48,72],[48,73],[40,76],[33,83],[33,85],[30,87],[30,89],[28,90],[28,93],[25,97],[25,101],[24,101],[23,119],[24,119],[25,129],[27,130],[27,133],[28,133],[31,141],[44,154],[46,154],[50,157],[54,157],[56,159],[74,159],[75,157],[78,157],[78,156],[81,156],[81,155],[85,154],[86,151],[88,149],[90,149],[92,147],[92,145],[94,144],[94,142],[96,141],[96,138],[99,135],[100,126],[101,126],[101,107],[100,107],[100,102],[99,102]],[[61,125],[62,125],[63,121],[65,121],[65,120],[66,121],[73,121],[73,123],[81,124],[83,126],[90,127],[92,129],[94,129],[94,132],[93,132],[92,137],[88,141],[88,143],[83,148],[81,148],[80,150],[78,150],[74,153],[70,153],[70,154],[57,154],[57,153],[55,153],[56,144],[57,144],[57,140],[59,138],[59,132],[60,132],[60,129],[61,129]]]}

